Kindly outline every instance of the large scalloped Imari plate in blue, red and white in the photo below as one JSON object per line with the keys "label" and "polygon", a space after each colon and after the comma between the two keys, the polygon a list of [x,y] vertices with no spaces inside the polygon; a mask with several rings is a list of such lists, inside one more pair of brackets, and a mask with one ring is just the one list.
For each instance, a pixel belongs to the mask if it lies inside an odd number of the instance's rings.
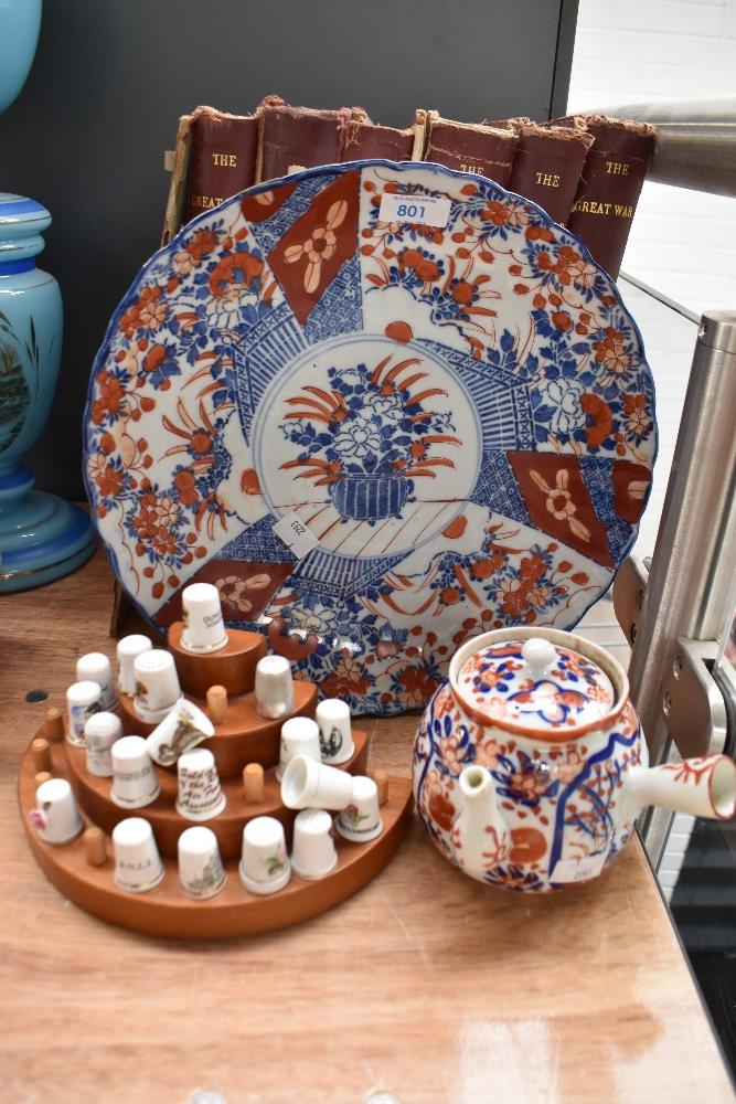
{"label": "large scalloped Imari plate in blue, red and white", "polygon": [[540,208],[370,161],[250,189],[145,265],[85,450],[152,623],[212,582],[324,694],[394,713],[467,637],[569,628],[608,587],[648,497],[653,385],[616,286]]}

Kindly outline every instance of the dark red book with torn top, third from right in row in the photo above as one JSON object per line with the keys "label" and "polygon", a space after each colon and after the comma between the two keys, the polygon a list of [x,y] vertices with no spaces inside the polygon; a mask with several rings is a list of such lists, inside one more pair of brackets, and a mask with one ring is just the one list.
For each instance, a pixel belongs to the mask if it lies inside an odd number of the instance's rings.
{"label": "dark red book with torn top, third from right in row", "polygon": [[477,172],[506,188],[518,142],[513,129],[456,123],[440,118],[437,112],[427,112],[423,160]]}

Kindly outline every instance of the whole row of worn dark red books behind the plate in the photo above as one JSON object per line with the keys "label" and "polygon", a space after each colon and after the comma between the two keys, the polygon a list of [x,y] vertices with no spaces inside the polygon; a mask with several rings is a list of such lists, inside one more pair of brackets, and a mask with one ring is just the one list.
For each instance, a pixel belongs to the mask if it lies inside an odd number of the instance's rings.
{"label": "whole row of worn dark red books behind the plate", "polygon": [[405,130],[362,107],[316,110],[267,96],[252,115],[198,107],[179,121],[163,243],[250,184],[364,158],[433,161],[474,172],[538,203],[616,278],[651,160],[653,127],[606,116],[457,123],[417,110]]}

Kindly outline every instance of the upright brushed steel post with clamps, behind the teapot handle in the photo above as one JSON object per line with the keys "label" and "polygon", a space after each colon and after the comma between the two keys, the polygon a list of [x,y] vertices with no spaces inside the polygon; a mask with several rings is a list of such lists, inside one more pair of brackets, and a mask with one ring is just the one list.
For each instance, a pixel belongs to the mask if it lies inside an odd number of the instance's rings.
{"label": "upright brushed steel post with clamps, behind the teapot handle", "polygon": [[[615,585],[632,644],[631,697],[659,762],[723,750],[711,678],[736,578],[736,311],[703,316],[662,520],[647,574],[627,561]],[[708,645],[710,652],[703,646]]]}

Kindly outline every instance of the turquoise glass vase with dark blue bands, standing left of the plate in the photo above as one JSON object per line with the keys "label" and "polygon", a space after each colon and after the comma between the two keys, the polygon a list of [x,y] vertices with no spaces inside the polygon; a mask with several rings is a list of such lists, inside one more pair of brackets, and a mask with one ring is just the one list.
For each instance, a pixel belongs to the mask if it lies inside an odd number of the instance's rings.
{"label": "turquoise glass vase with dark blue bands, standing left of the plate", "polygon": [[35,266],[50,224],[35,200],[0,192],[0,594],[60,578],[95,549],[88,516],[33,490],[21,464],[49,417],[62,351],[58,284]]}

